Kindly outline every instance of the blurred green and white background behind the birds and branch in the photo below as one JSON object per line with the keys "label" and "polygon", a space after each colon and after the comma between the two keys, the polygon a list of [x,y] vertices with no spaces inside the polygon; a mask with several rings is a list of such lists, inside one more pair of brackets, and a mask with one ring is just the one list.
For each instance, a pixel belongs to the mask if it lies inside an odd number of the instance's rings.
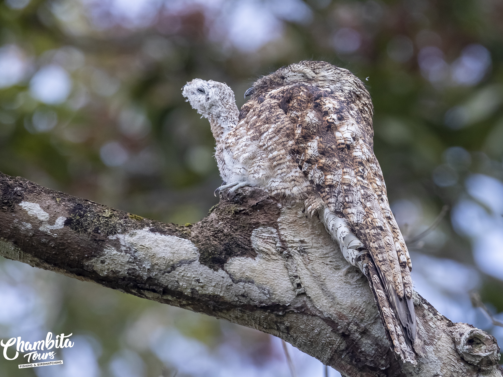
{"label": "blurred green and white background behind the birds and branch", "polygon": [[[5,0],[0,171],[178,224],[221,184],[214,140],[181,95],[226,82],[240,107],[303,59],[350,69],[375,106],[374,151],[408,240],[415,289],[503,344],[501,0]],[[447,205],[447,215],[415,240]],[[0,375],[288,376],[279,339],[36,269],[0,263],[3,339],[73,333],[63,366]],[[322,364],[290,347],[299,376]],[[339,373],[330,369],[330,376]]]}

